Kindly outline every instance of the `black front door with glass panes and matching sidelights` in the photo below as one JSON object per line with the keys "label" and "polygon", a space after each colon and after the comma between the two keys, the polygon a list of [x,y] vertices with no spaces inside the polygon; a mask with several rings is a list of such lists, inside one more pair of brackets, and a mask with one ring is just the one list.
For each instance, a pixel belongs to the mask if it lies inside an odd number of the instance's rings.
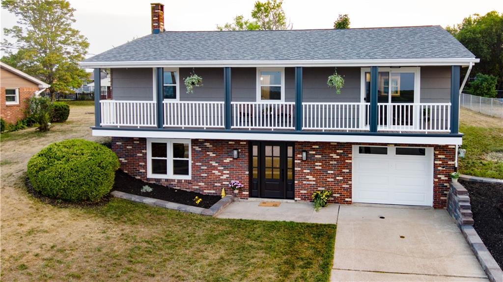
{"label": "black front door with glass panes and matching sidelights", "polygon": [[293,165],[293,144],[251,143],[250,196],[293,199]]}

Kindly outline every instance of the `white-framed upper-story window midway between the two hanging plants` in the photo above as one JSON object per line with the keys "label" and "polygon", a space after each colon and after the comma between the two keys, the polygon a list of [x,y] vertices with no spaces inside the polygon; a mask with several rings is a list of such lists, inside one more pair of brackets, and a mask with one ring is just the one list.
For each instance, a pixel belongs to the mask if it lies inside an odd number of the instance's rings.
{"label": "white-framed upper-story window midway between the two hanging plants", "polygon": [[257,101],[285,101],[285,68],[257,69]]}

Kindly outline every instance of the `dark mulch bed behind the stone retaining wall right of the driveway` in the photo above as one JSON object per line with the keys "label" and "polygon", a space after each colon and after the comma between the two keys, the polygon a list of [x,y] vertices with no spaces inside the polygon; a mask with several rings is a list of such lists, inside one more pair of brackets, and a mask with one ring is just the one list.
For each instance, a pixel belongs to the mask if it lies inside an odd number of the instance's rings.
{"label": "dark mulch bed behind the stone retaining wall right of the driveway", "polygon": [[459,181],[470,195],[473,227],[503,268],[503,184]]}

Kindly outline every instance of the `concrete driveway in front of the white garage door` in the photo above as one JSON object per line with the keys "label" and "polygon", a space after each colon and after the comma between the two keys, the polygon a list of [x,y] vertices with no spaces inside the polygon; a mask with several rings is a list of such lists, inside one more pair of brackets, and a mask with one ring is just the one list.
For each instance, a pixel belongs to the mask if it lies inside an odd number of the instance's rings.
{"label": "concrete driveway in front of the white garage door", "polygon": [[445,210],[361,205],[340,206],[330,279],[488,280]]}

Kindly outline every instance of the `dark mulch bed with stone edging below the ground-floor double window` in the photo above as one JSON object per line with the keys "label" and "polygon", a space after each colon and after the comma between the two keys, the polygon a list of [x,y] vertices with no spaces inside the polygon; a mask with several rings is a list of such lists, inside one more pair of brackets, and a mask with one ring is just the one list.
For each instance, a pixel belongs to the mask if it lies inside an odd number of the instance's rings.
{"label": "dark mulch bed with stone edging below the ground-floor double window", "polygon": [[[141,192],[141,189],[145,185],[152,188],[152,191]],[[112,190],[206,209],[210,208],[221,199],[220,196],[204,195],[197,192],[144,182],[126,174],[122,170],[118,170],[115,173],[115,183]],[[196,196],[203,199],[203,201],[196,204],[194,202]]]}

